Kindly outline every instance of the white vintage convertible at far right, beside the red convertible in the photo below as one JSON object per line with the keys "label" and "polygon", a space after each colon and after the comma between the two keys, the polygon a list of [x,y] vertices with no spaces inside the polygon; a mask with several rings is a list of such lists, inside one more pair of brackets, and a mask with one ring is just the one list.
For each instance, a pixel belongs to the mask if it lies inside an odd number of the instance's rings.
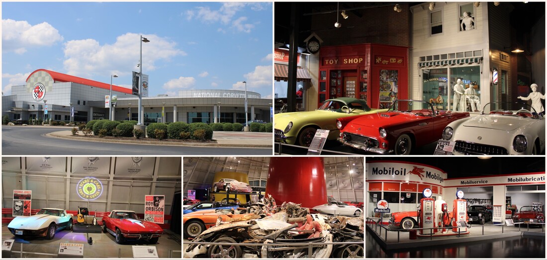
{"label": "white vintage convertible at far right, beside the red convertible", "polygon": [[545,118],[522,102],[487,103],[480,115],[456,120],[443,130],[453,154],[540,154],[545,149]]}

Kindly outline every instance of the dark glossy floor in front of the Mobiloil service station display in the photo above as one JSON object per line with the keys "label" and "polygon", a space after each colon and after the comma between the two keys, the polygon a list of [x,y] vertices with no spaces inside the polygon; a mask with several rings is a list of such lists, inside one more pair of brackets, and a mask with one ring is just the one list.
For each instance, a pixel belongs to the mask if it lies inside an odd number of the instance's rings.
{"label": "dark glossy floor in front of the Mobiloil service station display", "polygon": [[409,232],[367,226],[366,258],[545,258],[545,229],[473,225],[468,235],[410,239]]}

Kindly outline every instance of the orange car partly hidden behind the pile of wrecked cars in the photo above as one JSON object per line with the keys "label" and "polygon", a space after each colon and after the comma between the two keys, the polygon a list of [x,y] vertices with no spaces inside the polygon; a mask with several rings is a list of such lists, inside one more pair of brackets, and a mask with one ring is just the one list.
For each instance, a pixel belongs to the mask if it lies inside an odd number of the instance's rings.
{"label": "orange car partly hidden behind the pile of wrecked cars", "polygon": [[184,238],[193,239],[206,229],[215,226],[219,217],[221,221],[228,221],[230,218],[249,218],[256,216],[254,213],[245,213],[245,208],[235,210],[200,210],[184,214],[182,224],[184,227]]}

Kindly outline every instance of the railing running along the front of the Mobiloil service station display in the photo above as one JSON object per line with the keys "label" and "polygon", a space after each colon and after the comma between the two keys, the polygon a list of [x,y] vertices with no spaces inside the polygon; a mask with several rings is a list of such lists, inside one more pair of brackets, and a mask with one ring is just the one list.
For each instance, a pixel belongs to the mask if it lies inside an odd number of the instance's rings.
{"label": "railing running along the front of the Mobiloil service station display", "polygon": [[[377,219],[377,220],[376,220]],[[457,228],[458,229],[458,232],[457,233],[457,237],[459,238],[461,236],[461,229],[463,228],[473,228],[473,227],[481,227],[482,229],[482,235],[484,235],[484,228],[485,227],[492,227],[492,226],[501,226],[502,227],[502,234],[504,232],[504,227],[506,226],[506,224],[484,224],[484,225],[480,225],[480,226],[469,226],[469,227],[435,227],[435,228],[412,228],[412,229],[391,229],[389,228],[389,225],[386,226],[386,225],[383,225],[380,223],[380,218],[371,218],[371,217],[367,217],[366,218],[366,226],[371,228],[372,230],[374,230],[374,232],[376,234],[378,234],[379,238],[382,239],[384,242],[387,242],[387,234],[388,234],[388,231],[394,231],[394,232],[397,232],[397,242],[400,242],[400,232],[410,232],[411,230],[415,230],[415,232],[417,232],[418,230],[430,230],[429,231],[429,238],[430,240],[433,240],[433,232],[435,230],[438,230],[438,229],[447,229],[447,230],[450,230],[450,229],[453,229],[453,228]],[[519,232],[521,232],[521,228],[522,228],[522,225],[526,225],[526,231],[529,232],[530,230],[530,226],[533,226],[533,225],[540,225],[542,227],[542,233],[545,233],[545,223],[524,223],[524,222],[517,222],[517,223],[514,223],[515,224],[515,227],[516,227],[516,224],[519,225]],[[384,234],[384,237],[382,238],[382,230],[384,230],[383,234]]]}

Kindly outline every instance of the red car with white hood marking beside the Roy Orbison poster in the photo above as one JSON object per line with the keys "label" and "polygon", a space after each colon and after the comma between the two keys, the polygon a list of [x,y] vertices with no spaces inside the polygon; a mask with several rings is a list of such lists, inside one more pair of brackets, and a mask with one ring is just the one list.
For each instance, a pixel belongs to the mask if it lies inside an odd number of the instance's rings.
{"label": "red car with white hood marking beside the Roy Orbison poster", "polygon": [[103,232],[114,235],[118,244],[125,240],[148,240],[156,244],[164,232],[154,222],[139,220],[137,213],[130,210],[113,210],[102,221]]}

